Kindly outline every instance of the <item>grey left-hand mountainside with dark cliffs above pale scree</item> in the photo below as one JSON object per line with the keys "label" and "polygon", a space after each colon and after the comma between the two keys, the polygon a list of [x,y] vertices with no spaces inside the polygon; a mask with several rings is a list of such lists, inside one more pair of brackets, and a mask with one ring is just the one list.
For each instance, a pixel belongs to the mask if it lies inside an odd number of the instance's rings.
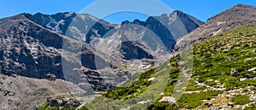
{"label": "grey left-hand mountainside with dark cliffs above pale scree", "polygon": [[[94,58],[102,62],[101,68],[111,67],[110,63],[86,45],[81,47],[83,50],[79,50],[81,56],[93,56],[82,59],[90,60],[90,64],[79,64],[79,56],[73,53],[80,48],[78,41],[44,29],[27,19],[26,14],[0,19],[0,35],[0,109],[35,108],[44,101],[45,96],[72,92],[68,85],[73,85],[76,92],[84,92],[75,86],[79,85],[78,80],[84,78],[84,70],[78,72],[74,68],[95,69]],[[63,42],[72,47],[68,47],[68,51],[61,49]],[[65,67],[70,76],[63,74],[63,63],[70,64]],[[86,80],[83,82],[96,87]]]}

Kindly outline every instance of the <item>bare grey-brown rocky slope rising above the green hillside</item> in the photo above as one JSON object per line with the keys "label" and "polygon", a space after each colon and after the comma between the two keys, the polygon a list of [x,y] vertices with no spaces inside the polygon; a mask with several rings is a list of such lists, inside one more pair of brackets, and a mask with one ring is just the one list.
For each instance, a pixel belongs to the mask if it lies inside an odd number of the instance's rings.
{"label": "bare grey-brown rocky slope rising above the green hillside", "polygon": [[177,40],[176,52],[182,52],[186,47],[194,45],[211,36],[224,31],[234,30],[242,25],[256,25],[256,8],[253,6],[237,4],[207,20],[199,28]]}

